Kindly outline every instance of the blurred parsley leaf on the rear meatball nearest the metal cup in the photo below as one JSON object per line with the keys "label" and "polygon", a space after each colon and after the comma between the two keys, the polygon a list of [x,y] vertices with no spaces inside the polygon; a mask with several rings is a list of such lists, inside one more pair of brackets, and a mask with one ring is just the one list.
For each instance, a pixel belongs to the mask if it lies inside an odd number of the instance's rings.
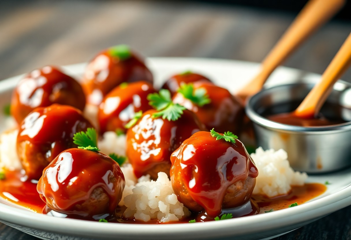
{"label": "blurred parsley leaf on the rear meatball nearest the metal cup", "polygon": [[200,87],[194,91],[194,85],[192,83],[180,85],[178,92],[183,94],[184,98],[189,99],[200,107],[211,102],[211,99],[208,98],[208,94],[206,93],[206,89]]}

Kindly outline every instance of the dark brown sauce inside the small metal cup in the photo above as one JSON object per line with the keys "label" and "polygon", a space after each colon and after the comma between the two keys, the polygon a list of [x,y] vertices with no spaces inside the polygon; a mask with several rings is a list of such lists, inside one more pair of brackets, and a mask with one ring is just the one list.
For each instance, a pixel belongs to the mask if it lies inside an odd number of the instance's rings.
{"label": "dark brown sauce inside the small metal cup", "polygon": [[302,118],[295,115],[294,112],[284,113],[286,109],[293,111],[299,104],[299,101],[277,104],[265,109],[261,115],[274,122],[301,127],[330,126],[351,120],[347,119],[347,116],[351,116],[351,109],[330,102],[326,102],[320,113],[314,118]]}

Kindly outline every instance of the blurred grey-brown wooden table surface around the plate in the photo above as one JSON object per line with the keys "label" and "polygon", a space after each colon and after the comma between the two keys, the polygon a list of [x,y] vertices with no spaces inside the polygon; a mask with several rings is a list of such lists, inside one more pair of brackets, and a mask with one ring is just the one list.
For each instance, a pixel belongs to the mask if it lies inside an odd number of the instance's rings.
{"label": "blurred grey-brown wooden table surface around the plate", "polygon": [[[128,44],[145,56],[260,62],[294,19],[284,12],[187,1],[0,2],[0,79],[45,65],[90,60]],[[351,31],[331,21],[285,66],[322,73]],[[351,81],[351,71],[343,76]],[[351,204],[351,203],[350,203]],[[351,207],[276,239],[351,239]],[[37,239],[0,224],[0,240]]]}

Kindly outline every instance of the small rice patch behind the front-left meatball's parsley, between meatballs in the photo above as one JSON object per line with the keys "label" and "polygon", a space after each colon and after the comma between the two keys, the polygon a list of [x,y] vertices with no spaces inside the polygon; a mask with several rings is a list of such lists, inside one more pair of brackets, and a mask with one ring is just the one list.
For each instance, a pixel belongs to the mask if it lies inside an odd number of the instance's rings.
{"label": "small rice patch behind the front-left meatball's parsley, between meatballs", "polygon": [[121,156],[126,155],[126,136],[117,136],[115,132],[109,131],[102,135],[102,139],[98,142],[98,147],[102,153],[106,155],[115,153]]}

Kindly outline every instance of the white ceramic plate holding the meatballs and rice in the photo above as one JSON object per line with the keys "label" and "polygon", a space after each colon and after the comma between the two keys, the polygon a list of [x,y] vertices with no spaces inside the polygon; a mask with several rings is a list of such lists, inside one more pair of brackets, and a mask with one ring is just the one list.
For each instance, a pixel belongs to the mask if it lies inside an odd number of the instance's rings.
{"label": "white ceramic plate holding the meatballs and rice", "polygon": [[[194,59],[150,58],[147,61],[155,76],[155,85],[174,73],[191,69],[213,79],[218,85],[235,92],[258,71],[250,62]],[[80,77],[85,64],[64,67],[68,74]],[[266,87],[303,81],[315,82],[320,75],[281,67],[271,76]],[[12,89],[21,76],[0,82],[0,102],[8,104]],[[0,122],[5,116],[0,115]],[[0,131],[3,131],[1,124]],[[0,221],[43,239],[270,239],[315,221],[351,203],[351,169],[312,175],[308,182],[329,181],[327,191],[305,204],[271,213],[225,221],[192,224],[135,225],[90,222],[55,218],[30,212],[0,199]]]}

